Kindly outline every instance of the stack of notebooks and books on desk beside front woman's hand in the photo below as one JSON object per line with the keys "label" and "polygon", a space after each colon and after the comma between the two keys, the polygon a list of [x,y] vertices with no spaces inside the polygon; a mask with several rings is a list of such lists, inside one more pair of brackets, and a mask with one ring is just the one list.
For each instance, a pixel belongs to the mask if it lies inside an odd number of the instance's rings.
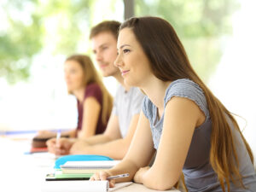
{"label": "stack of notebooks and books on desk beside front woman's hand", "polygon": [[[85,159],[85,156],[75,156],[76,160]],[[89,156],[86,156],[88,159]],[[99,157],[102,158],[102,157]],[[98,158],[98,159],[99,159]],[[69,161],[68,161],[68,160]],[[95,158],[96,159],[96,158]],[[102,158],[104,159],[104,158]],[[106,158],[105,158],[106,159]],[[67,161],[65,161],[67,160]],[[111,169],[119,164],[120,160],[73,160],[73,155],[62,157],[55,161],[55,172],[48,174],[42,185],[42,192],[110,192],[123,188],[131,182],[117,183],[109,189],[109,181],[82,181],[99,171]],[[63,162],[65,161],[65,162]],[[62,163],[63,162],[63,163]],[[117,176],[115,176],[117,177]]]}

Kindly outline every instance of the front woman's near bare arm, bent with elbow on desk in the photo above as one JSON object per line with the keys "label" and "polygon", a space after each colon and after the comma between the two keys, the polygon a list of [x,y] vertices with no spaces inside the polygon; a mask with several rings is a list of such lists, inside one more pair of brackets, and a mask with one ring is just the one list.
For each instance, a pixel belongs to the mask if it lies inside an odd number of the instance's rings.
{"label": "front woman's near bare arm, bent with elbow on desk", "polygon": [[166,105],[163,131],[154,165],[141,172],[138,183],[151,189],[171,189],[182,173],[195,127],[204,120],[205,115],[195,102],[174,96]]}

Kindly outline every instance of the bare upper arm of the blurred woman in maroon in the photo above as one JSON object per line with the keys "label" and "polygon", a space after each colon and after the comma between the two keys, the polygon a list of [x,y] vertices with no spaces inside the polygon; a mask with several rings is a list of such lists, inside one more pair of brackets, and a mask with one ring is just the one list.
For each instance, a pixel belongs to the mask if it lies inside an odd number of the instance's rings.
{"label": "bare upper arm of the blurred woman in maroon", "polygon": [[96,125],[100,120],[101,105],[96,101],[95,97],[88,97],[84,101],[84,113],[82,129],[79,131],[79,138],[87,138],[94,136],[96,133]]}

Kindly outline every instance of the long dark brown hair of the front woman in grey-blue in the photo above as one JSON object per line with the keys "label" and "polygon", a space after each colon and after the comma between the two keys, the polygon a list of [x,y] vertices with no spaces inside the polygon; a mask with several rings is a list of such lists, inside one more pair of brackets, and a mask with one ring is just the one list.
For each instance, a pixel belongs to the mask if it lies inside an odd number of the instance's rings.
{"label": "long dark brown hair of the front woman in grey-blue", "polygon": [[210,149],[210,163],[214,172],[218,175],[218,181],[225,192],[225,183],[230,192],[230,180],[245,188],[242,176],[239,172],[239,160],[236,153],[236,145],[227,117],[239,131],[247,152],[253,163],[253,153],[246,139],[242,136],[236,119],[218,101],[195,73],[189,62],[189,58],[171,24],[158,17],[135,17],[120,26],[131,28],[137,41],[142,45],[144,53],[150,61],[150,67],[154,75],[162,81],[174,81],[177,79],[191,79],[199,84],[207,99],[207,106],[212,119],[212,135]]}

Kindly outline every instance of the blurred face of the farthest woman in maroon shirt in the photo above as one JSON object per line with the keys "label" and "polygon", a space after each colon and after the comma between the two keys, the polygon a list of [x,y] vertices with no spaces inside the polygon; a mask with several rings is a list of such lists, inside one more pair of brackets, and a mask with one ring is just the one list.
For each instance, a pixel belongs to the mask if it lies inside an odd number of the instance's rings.
{"label": "blurred face of the farthest woman in maroon shirt", "polygon": [[83,87],[84,71],[77,61],[66,61],[64,63],[65,80],[67,90],[74,91]]}

